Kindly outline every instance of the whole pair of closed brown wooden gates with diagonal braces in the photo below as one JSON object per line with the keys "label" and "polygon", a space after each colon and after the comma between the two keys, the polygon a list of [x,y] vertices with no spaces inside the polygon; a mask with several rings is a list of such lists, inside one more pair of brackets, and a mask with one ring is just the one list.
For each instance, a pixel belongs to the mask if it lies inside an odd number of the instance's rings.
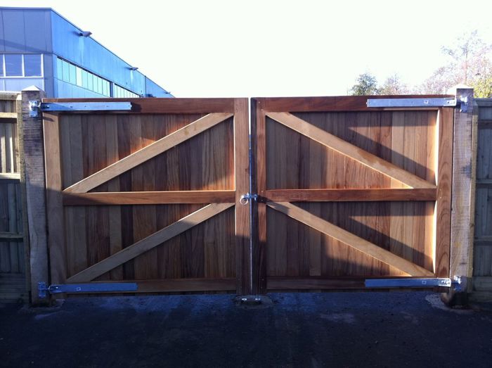
{"label": "whole pair of closed brown wooden gates with diagonal braces", "polygon": [[453,108],[252,99],[250,119],[247,99],[129,101],[44,113],[52,284],[247,294],[449,277]]}

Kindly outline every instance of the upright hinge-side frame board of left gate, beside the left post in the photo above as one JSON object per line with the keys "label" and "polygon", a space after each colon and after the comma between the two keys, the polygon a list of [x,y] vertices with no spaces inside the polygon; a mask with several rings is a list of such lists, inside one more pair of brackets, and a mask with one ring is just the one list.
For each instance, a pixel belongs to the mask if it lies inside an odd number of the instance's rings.
{"label": "upright hinge-side frame board of left gate, beside the left post", "polygon": [[67,278],[65,236],[63,235],[62,174],[58,115],[43,114],[46,159],[46,214],[51,283],[63,284]]}

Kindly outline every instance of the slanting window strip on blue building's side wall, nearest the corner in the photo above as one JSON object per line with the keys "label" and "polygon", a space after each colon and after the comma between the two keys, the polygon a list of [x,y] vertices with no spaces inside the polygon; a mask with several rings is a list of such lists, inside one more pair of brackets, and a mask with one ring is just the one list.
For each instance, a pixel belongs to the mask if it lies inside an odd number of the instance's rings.
{"label": "slanting window strip on blue building's side wall, nearest the corner", "polygon": [[111,96],[110,82],[89,72],[89,70],[82,69],[61,58],[56,59],[56,70],[59,80],[89,89],[89,91],[96,92],[96,94]]}

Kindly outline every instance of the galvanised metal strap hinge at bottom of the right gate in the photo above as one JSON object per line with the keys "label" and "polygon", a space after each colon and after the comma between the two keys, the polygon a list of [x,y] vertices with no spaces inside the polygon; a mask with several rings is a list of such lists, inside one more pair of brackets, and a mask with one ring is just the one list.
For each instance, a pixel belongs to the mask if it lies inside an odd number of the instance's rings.
{"label": "galvanised metal strap hinge at bottom of the right gate", "polygon": [[434,288],[436,286],[461,290],[461,277],[455,276],[453,280],[446,278],[436,279],[366,279],[366,288]]}

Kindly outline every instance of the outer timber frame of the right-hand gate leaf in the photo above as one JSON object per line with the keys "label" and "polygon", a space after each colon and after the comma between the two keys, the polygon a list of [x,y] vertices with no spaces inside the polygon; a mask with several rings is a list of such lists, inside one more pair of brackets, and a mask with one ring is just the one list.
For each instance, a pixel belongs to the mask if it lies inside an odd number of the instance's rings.
{"label": "outer timber frame of the right-hand gate leaf", "polygon": [[[457,95],[461,91],[457,91]],[[459,95],[458,95],[459,96]],[[353,277],[310,277],[299,278],[299,280],[289,281],[292,287],[283,285],[283,281],[275,282],[273,287],[267,286],[266,277],[266,201],[262,198],[266,197],[266,115],[268,113],[280,112],[352,112],[352,111],[382,111],[382,110],[438,110],[441,115],[446,113],[446,120],[450,119],[453,123],[453,115],[451,107],[432,107],[432,108],[368,108],[367,101],[370,99],[412,99],[412,98],[452,98],[455,95],[405,95],[405,96],[330,96],[330,97],[280,97],[280,98],[254,98],[251,101],[251,127],[253,140],[253,155],[254,163],[254,193],[259,196],[258,203],[254,206],[253,224],[253,243],[254,243],[254,292],[266,293],[268,289],[333,289],[333,288],[364,288],[362,280]],[[459,112],[459,108],[454,111]],[[468,113],[472,113],[472,108],[469,108]],[[273,118],[274,119],[274,118]],[[274,119],[275,120],[275,119]],[[438,118],[437,124],[442,122]],[[441,198],[436,201],[436,265],[434,267],[434,277],[451,277],[450,274],[450,253],[451,252],[451,186],[452,186],[452,165],[453,160],[453,145],[457,144],[456,138],[453,135],[453,129],[447,132],[444,129],[439,130],[439,134],[445,134],[447,137],[439,139],[439,153],[436,198]],[[458,143],[460,144],[460,143]],[[442,153],[442,154],[441,154]],[[456,163],[455,163],[456,164]],[[281,211],[283,212],[283,211]],[[441,226],[439,225],[441,224]],[[439,234],[440,233],[440,234]],[[440,255],[438,257],[438,255]],[[453,258],[452,262],[456,262]],[[381,278],[381,277],[380,277]],[[385,277],[389,278],[389,277]],[[341,282],[343,279],[343,282]],[[441,288],[441,291],[446,289]]]}

